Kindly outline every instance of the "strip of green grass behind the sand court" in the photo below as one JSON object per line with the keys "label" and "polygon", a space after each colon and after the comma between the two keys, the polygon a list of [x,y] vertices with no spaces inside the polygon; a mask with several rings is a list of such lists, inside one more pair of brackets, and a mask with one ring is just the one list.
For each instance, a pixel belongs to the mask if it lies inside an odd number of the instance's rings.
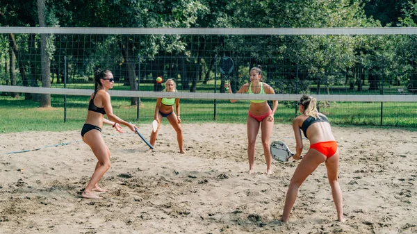
{"label": "strip of green grass behind the sand court", "polygon": [[[52,108],[39,108],[39,103],[0,96],[0,133],[23,131],[69,131],[81,130],[88,108],[88,97],[67,96],[67,122],[64,122],[63,96],[51,95]],[[113,111],[126,121],[135,124],[150,124],[154,117],[156,99],[141,99],[139,120],[137,107],[131,106],[130,98],[112,97]],[[294,102],[281,101],[275,114],[275,122],[290,124],[295,117]],[[216,101],[214,117],[213,100],[181,99],[183,123],[201,122],[246,122],[249,101],[230,103]],[[417,103],[384,103],[382,126],[417,128]],[[380,126],[381,103],[379,102],[329,102],[320,103],[320,112],[325,113],[332,124]],[[216,119],[216,120],[214,120]],[[163,123],[167,123],[164,120]]]}

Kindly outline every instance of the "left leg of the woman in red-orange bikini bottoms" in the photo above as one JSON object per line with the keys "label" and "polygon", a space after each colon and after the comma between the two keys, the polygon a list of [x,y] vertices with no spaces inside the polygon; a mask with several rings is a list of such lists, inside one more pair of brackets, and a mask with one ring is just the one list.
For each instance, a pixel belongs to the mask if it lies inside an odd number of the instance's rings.
{"label": "left leg of the woman in red-orange bikini bottoms", "polygon": [[282,212],[281,217],[282,222],[288,222],[291,208],[293,208],[295,199],[297,199],[298,188],[305,181],[307,176],[314,172],[318,165],[320,165],[322,162],[325,162],[325,160],[326,156],[316,151],[315,149],[309,149],[306,155],[302,158],[300,164],[297,166],[297,169],[295,169],[293,178],[291,178],[290,185],[288,186],[284,211]]}

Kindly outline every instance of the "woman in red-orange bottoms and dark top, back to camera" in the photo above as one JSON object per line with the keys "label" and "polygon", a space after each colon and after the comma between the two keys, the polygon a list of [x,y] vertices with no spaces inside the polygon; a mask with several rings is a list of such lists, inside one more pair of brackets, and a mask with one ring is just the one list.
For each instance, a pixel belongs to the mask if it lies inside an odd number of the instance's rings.
{"label": "woman in red-orange bottoms and dark top, back to camera", "polygon": [[297,149],[293,158],[296,160],[300,159],[302,153],[301,131],[309,139],[310,149],[303,156],[297,169],[295,169],[293,178],[291,178],[281,222],[288,222],[291,208],[293,208],[295,199],[297,199],[298,188],[322,162],[326,163],[327,178],[330,187],[332,187],[332,196],[336,205],[338,220],[341,222],[345,221],[343,217],[342,190],[338,183],[338,146],[332,134],[329,119],[318,112],[316,104],[317,100],[315,98],[308,95],[302,96],[298,107],[302,115],[299,115],[293,121],[295,141],[297,142]]}

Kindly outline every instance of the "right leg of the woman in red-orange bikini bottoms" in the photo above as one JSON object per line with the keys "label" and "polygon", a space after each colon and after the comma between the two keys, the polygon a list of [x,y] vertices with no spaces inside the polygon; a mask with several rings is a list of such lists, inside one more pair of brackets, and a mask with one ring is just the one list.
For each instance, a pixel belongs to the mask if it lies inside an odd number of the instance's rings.
{"label": "right leg of the woman in red-orange bikini bottoms", "polygon": [[345,222],[343,217],[343,199],[342,190],[338,183],[338,164],[339,152],[336,151],[334,156],[326,160],[327,177],[329,178],[330,187],[332,187],[332,197],[334,205],[336,205],[337,218],[340,222]]}

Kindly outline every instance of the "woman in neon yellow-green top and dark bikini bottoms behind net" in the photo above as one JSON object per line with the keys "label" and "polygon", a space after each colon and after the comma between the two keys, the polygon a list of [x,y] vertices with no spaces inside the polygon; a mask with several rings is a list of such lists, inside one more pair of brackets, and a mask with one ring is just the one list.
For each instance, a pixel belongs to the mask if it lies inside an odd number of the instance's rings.
{"label": "woman in neon yellow-green top and dark bikini bottoms behind net", "polygon": [[[176,92],[177,85],[172,79],[165,82],[165,92]],[[175,112],[174,112],[175,104]],[[158,98],[156,100],[154,119],[158,122],[156,131],[152,131],[150,143],[155,146],[156,136],[158,135],[159,126],[161,126],[162,118],[165,117],[170,122],[171,126],[177,132],[177,141],[179,146],[179,153],[186,153],[183,150],[183,135],[181,128],[181,118],[179,117],[179,99]]]}

